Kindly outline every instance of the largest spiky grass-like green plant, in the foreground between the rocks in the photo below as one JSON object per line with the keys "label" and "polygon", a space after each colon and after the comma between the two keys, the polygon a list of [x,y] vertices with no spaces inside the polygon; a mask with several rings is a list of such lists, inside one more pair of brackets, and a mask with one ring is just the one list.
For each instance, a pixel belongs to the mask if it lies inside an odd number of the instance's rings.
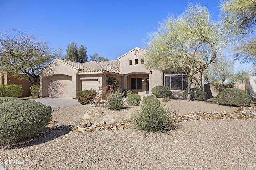
{"label": "largest spiky grass-like green plant, in the foreground between the rocks", "polygon": [[174,112],[165,108],[164,104],[152,96],[142,100],[141,109],[137,110],[137,115],[133,115],[135,128],[144,131],[146,135],[163,132],[170,134],[172,123],[171,115]]}

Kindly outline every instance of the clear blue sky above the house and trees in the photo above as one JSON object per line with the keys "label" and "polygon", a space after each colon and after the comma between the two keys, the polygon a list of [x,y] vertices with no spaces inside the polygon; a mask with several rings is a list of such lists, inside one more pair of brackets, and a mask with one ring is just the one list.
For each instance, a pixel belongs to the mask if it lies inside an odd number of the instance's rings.
{"label": "clear blue sky above the house and trees", "polygon": [[[168,14],[184,12],[188,0],[0,0],[0,32],[12,28],[37,34],[60,47],[74,41],[115,60],[135,47],[144,48]],[[218,19],[219,0],[198,0]]]}

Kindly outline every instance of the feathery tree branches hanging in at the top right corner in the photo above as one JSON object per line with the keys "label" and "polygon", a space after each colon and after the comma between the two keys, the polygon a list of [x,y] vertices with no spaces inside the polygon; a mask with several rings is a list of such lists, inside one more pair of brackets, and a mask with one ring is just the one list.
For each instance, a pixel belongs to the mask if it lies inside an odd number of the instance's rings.
{"label": "feathery tree branches hanging in at the top right corner", "polygon": [[232,18],[229,29],[238,43],[234,58],[256,65],[256,0],[226,0],[221,9]]}

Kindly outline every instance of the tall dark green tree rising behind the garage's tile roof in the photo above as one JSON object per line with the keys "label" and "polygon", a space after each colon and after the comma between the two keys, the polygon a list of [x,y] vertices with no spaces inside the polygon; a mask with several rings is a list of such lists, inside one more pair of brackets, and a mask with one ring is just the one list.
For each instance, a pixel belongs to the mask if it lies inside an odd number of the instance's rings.
{"label": "tall dark green tree rising behind the garage's tile roof", "polygon": [[75,42],[71,42],[68,44],[66,51],[65,59],[80,63],[87,62],[87,48],[83,45],[80,45],[78,48]]}

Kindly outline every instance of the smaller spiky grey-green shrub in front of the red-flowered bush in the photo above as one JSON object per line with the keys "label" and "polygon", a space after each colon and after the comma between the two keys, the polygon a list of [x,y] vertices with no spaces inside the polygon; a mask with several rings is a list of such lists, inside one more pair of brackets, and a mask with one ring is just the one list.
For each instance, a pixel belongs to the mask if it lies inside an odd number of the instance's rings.
{"label": "smaller spiky grey-green shrub in front of the red-flowered bush", "polygon": [[115,92],[112,92],[108,95],[106,99],[106,105],[109,109],[112,110],[120,110],[122,107],[124,107],[124,98],[123,93],[119,92],[119,90],[116,90]]}

